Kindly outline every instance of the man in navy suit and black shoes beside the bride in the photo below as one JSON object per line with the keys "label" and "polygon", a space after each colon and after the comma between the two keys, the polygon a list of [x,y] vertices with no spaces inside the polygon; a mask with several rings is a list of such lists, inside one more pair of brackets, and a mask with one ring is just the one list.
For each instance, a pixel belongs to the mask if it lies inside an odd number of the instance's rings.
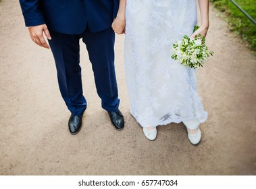
{"label": "man in navy suit and black shoes beside the bride", "polygon": [[114,68],[115,34],[111,28],[118,12],[119,0],[20,0],[25,24],[36,45],[49,49],[55,64],[59,90],[71,116],[70,134],[82,126],[86,99],[82,94],[79,40],[86,44],[92,63],[101,106],[117,130],[124,128],[124,117],[118,109],[118,86]]}

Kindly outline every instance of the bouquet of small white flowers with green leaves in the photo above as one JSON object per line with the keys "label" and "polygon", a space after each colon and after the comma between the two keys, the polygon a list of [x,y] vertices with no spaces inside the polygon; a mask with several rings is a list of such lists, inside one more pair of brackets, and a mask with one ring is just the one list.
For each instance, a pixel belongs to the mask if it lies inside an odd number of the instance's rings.
{"label": "bouquet of small white flowers with green leaves", "polygon": [[205,38],[200,34],[196,38],[190,38],[184,35],[177,43],[173,44],[174,54],[172,59],[178,60],[182,65],[190,68],[203,67],[203,63],[208,59],[209,55],[213,55],[213,51],[207,51]]}

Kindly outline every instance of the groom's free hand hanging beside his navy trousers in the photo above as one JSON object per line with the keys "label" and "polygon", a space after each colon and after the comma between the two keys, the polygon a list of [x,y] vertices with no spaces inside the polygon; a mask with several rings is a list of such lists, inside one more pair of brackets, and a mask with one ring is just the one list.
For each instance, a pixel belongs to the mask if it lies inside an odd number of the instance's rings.
{"label": "groom's free hand hanging beside his navy trousers", "polygon": [[49,33],[49,30],[47,29],[46,24],[42,24],[39,26],[32,26],[28,28],[30,37],[34,43],[41,47],[45,47],[47,49],[50,49],[49,45],[46,43],[45,38],[43,37],[43,33],[45,33],[45,36],[51,40],[51,35]]}

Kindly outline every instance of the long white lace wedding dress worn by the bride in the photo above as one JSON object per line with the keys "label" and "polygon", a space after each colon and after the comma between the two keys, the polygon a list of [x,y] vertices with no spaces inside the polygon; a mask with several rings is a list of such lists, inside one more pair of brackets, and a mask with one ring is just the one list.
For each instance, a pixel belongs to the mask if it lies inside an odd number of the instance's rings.
{"label": "long white lace wedding dress worn by the bride", "polygon": [[207,119],[196,70],[171,58],[172,44],[196,24],[196,0],[127,0],[126,82],[130,113],[140,126]]}

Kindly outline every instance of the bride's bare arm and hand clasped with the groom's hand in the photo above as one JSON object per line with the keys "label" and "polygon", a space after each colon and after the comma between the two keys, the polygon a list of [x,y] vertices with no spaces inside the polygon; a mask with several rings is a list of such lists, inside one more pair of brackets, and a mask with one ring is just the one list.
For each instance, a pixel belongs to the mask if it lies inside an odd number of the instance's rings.
{"label": "bride's bare arm and hand clasped with the groom's hand", "polygon": [[126,32],[126,0],[120,0],[118,15],[112,23],[112,28],[117,34]]}

